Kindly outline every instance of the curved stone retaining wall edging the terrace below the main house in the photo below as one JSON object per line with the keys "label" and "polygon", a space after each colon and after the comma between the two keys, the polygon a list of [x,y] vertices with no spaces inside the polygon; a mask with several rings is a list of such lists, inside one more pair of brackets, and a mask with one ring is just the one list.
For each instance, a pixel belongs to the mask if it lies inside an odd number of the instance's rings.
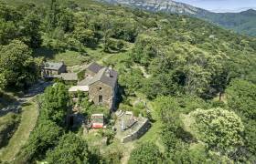
{"label": "curved stone retaining wall edging the terrace below the main house", "polygon": [[141,138],[144,135],[144,133],[147,132],[147,130],[149,128],[150,128],[150,122],[147,118],[144,118],[143,122],[140,123],[140,126],[135,131],[133,131],[133,133],[122,138],[121,141],[123,143],[126,143],[126,142],[132,141],[134,139]]}

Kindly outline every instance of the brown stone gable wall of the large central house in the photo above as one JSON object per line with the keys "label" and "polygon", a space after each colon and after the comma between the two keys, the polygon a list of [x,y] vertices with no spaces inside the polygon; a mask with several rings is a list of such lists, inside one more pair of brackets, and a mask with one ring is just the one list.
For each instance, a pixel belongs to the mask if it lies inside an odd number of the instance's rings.
{"label": "brown stone gable wall of the large central house", "polygon": [[113,108],[115,105],[116,89],[97,81],[89,86],[89,97],[96,105]]}

